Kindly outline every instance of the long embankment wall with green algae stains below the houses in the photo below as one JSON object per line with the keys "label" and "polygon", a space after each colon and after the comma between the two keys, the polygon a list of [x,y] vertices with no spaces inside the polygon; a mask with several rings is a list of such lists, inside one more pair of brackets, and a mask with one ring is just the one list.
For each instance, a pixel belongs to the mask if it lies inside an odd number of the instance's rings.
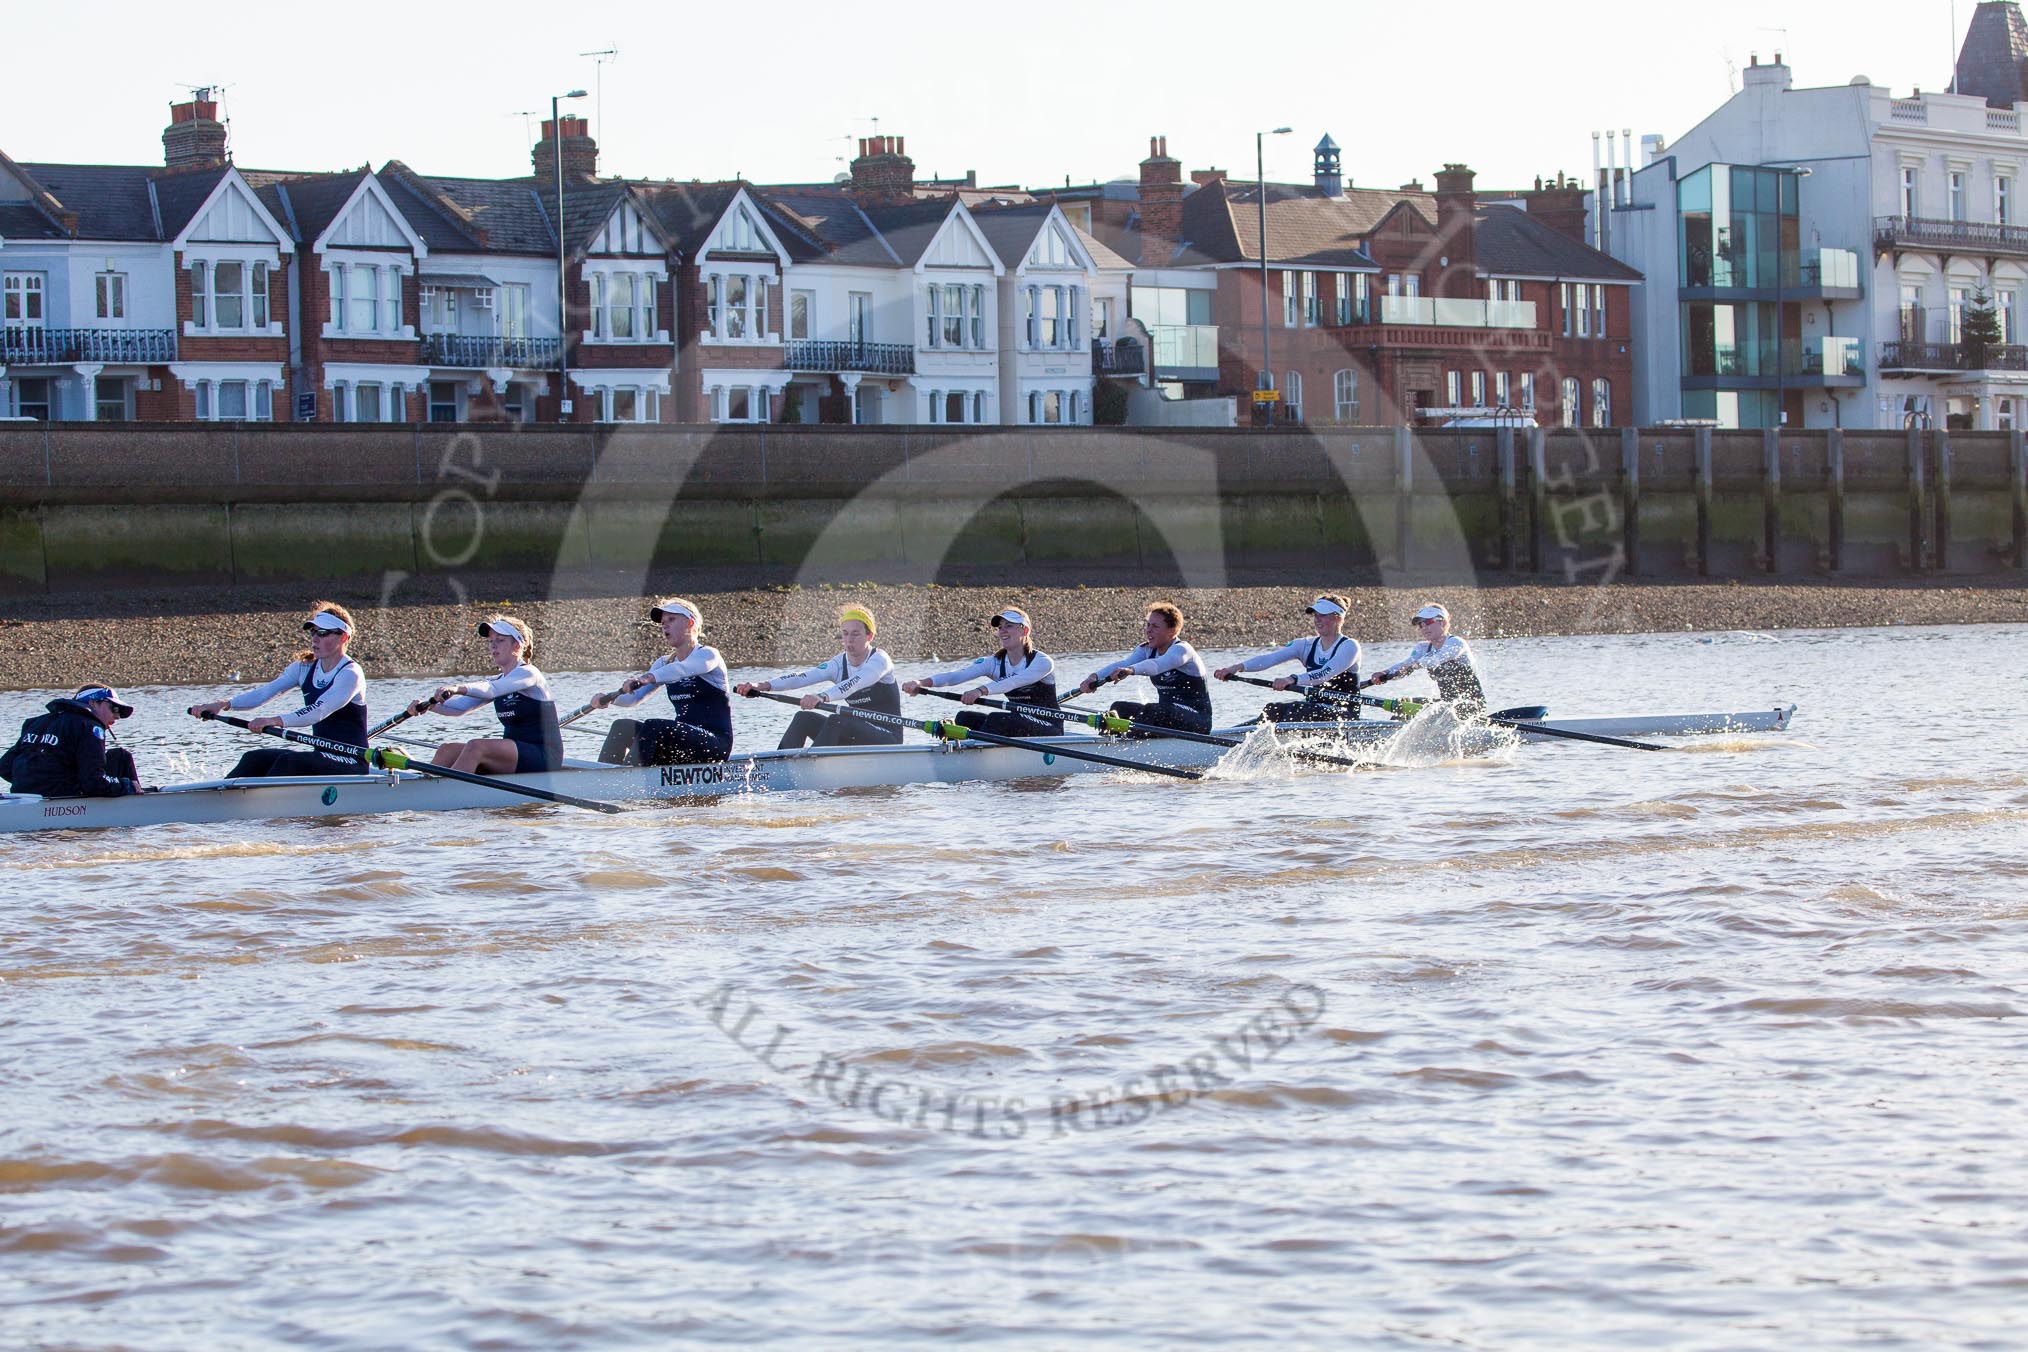
{"label": "long embankment wall with green algae stains below the houses", "polygon": [[2020,432],[0,426],[0,590],[754,566],[2022,568]]}

